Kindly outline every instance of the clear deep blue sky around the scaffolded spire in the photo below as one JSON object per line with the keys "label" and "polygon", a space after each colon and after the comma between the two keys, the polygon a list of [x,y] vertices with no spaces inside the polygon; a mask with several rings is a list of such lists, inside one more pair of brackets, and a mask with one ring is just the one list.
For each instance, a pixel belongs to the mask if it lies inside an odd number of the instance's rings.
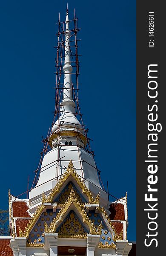
{"label": "clear deep blue sky around the scaffolded spire", "polygon": [[[128,239],[136,240],[136,3],[69,0],[80,41],[80,108],[104,185],[128,193]],[[54,111],[54,46],[62,0],[0,2],[0,208],[34,178]],[[110,198],[113,200],[113,198]]]}

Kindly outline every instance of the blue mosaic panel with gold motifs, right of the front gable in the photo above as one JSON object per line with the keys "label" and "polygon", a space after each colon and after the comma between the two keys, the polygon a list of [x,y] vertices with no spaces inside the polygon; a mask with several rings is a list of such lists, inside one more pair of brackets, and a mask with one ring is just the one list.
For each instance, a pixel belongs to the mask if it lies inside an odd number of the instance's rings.
{"label": "blue mosaic panel with gold motifs, right of the front gable", "polygon": [[100,213],[95,213],[95,211],[89,211],[88,217],[92,220],[96,229],[102,221],[102,234],[100,235],[100,242],[102,242],[103,244],[105,244],[105,242],[108,242],[109,244],[114,243],[112,239],[112,234],[109,232],[108,227],[106,227],[105,221],[103,220]]}

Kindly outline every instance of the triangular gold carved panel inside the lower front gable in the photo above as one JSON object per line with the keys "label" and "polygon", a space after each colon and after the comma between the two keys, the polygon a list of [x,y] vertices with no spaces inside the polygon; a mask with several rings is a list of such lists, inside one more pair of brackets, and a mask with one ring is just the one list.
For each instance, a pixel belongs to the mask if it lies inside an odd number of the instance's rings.
{"label": "triangular gold carved panel inside the lower front gable", "polygon": [[87,233],[85,232],[84,227],[75,217],[74,213],[71,212],[69,218],[67,218],[66,221],[60,227],[58,235],[67,237],[83,235],[83,237],[85,237]]}

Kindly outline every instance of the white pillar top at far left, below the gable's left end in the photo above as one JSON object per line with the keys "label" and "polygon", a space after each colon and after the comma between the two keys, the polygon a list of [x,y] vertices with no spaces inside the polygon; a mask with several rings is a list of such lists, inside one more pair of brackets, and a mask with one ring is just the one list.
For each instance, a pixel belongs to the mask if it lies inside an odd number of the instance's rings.
{"label": "white pillar top at far left, below the gable's left end", "polygon": [[15,237],[10,240],[14,256],[26,256],[26,237]]}

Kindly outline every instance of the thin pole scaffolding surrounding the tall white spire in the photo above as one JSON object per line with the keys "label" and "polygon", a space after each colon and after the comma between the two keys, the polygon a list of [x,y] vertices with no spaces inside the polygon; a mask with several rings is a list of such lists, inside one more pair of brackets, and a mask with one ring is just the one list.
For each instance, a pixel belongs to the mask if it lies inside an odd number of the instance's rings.
{"label": "thin pole scaffolding surrounding the tall white spire", "polygon": [[[60,102],[63,99],[63,85],[64,85],[64,73],[63,73],[63,66],[64,66],[64,57],[65,57],[65,21],[60,21],[60,13],[59,13],[59,19],[58,19],[58,23],[56,23],[58,26],[58,32],[56,34],[57,36],[57,46],[54,47],[56,49],[56,58],[55,58],[55,68],[56,68],[56,78],[55,78],[55,108],[54,108],[54,118],[51,124],[51,127],[49,128],[48,134],[46,138],[43,138],[43,150],[40,152],[41,156],[40,156],[40,161],[39,164],[37,166],[37,169],[34,171],[35,172],[35,177],[31,186],[31,189],[36,186],[37,181],[39,179],[39,174],[41,172],[41,164],[43,161],[43,157],[45,156],[45,154],[49,151],[52,150],[52,147],[50,146],[50,137],[52,135],[52,128],[54,123],[56,122],[56,120],[59,119],[60,117]],[[94,151],[92,151],[91,146],[90,146],[90,138],[88,137],[88,128],[86,128],[86,126],[83,123],[83,119],[82,116],[83,114],[80,112],[80,102],[79,102],[79,68],[80,68],[80,61],[79,61],[79,56],[80,54],[78,54],[78,42],[80,41],[80,39],[78,38],[78,32],[80,31],[80,28],[78,28],[78,19],[76,17],[75,14],[75,9],[74,9],[74,17],[72,20],[69,20],[69,24],[70,24],[70,36],[69,36],[69,40],[70,40],[70,45],[69,45],[69,49],[70,49],[70,56],[71,56],[71,65],[73,68],[72,71],[72,96],[73,96],[73,100],[75,102],[75,116],[77,117],[78,121],[81,124],[81,127],[83,127],[83,134],[86,138],[86,145],[84,146],[84,149],[92,155],[92,157],[94,157]],[[59,137],[60,137],[60,132],[59,132],[59,128],[60,128],[60,124],[58,124],[58,131],[57,133],[57,138],[58,138],[58,144],[57,147],[60,147],[60,143],[59,143]],[[80,128],[81,129],[81,128]],[[79,143],[78,143],[78,137],[81,140],[80,134],[78,134],[78,132],[76,131],[76,127],[75,127],[75,137],[77,140],[77,148],[78,148],[78,152],[79,151]],[[69,138],[69,136],[67,137]],[[63,145],[65,146],[65,145]],[[66,145],[67,147],[68,145]],[[58,150],[59,153],[59,150]],[[59,166],[59,154],[57,157],[57,165]],[[82,165],[81,162],[83,162],[81,160],[80,154],[79,154],[79,162],[80,162],[80,168],[82,170]],[[95,163],[96,164],[96,163]],[[94,167],[94,166],[93,166]],[[99,180],[102,184],[102,181],[100,179],[100,170],[97,169],[97,166],[95,166],[95,169],[97,170],[98,173],[98,177]],[[83,171],[83,170],[82,170]],[[58,172],[57,172],[58,173]],[[83,174],[83,172],[82,172]],[[57,175],[58,177],[58,175]],[[103,186],[103,184],[102,184]],[[104,189],[104,187],[103,187]],[[104,189],[105,190],[105,189]]]}

